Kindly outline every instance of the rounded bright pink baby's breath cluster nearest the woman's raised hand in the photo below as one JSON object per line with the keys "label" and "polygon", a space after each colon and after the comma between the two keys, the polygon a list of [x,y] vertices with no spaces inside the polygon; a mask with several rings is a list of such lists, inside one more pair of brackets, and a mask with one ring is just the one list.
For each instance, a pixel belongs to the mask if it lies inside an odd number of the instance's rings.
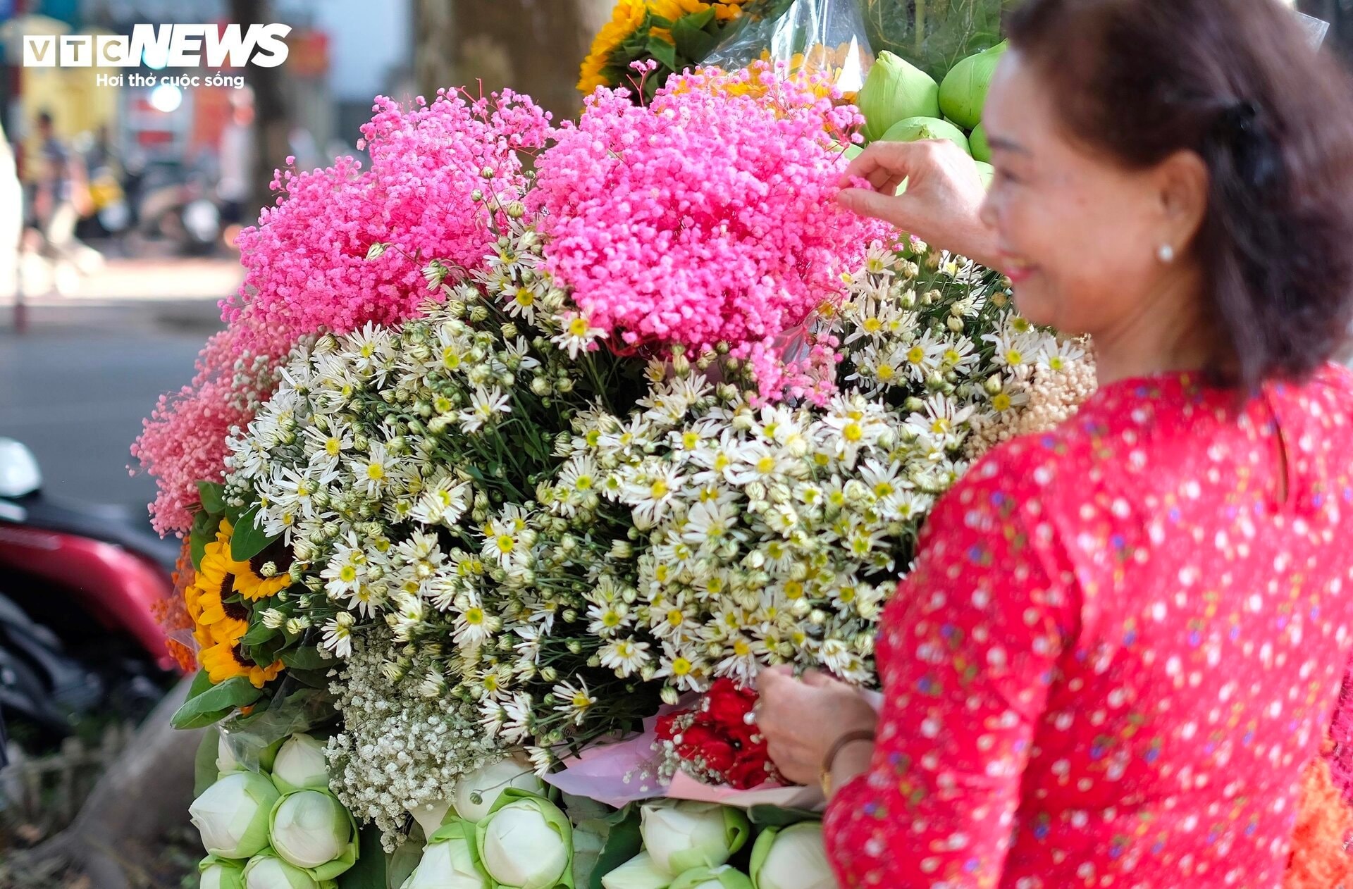
{"label": "rounded bright pink baby's breath cluster nearest the woman's raised hand", "polygon": [[823,80],[767,64],[676,76],[649,107],[598,91],[538,164],[547,263],[613,349],[727,344],[760,395],[809,394],[817,344],[777,337],[842,295],[878,229],[836,204],[840,145],[861,123]]}

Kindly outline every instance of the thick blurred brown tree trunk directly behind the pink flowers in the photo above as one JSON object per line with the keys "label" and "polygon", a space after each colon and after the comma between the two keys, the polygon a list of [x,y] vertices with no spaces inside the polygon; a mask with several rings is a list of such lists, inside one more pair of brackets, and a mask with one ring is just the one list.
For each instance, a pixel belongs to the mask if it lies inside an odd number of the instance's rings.
{"label": "thick blurred brown tree trunk directly behind the pink flowers", "polygon": [[614,0],[415,0],[414,77],[472,93],[511,87],[556,119],[582,107],[578,66]]}

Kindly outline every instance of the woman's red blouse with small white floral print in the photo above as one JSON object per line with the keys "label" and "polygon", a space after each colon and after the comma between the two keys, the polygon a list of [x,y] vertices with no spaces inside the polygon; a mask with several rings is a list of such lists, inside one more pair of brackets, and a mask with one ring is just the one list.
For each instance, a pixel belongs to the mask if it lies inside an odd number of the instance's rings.
{"label": "woman's red blouse with small white floral print", "polygon": [[840,884],[1277,886],[1349,593],[1342,368],[1243,409],[1124,380],[993,451],[884,614],[873,766],[827,812]]}

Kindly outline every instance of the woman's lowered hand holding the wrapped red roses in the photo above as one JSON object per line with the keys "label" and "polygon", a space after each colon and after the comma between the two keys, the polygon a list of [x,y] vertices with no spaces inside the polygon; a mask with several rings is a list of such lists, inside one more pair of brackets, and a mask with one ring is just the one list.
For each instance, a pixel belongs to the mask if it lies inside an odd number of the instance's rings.
{"label": "woman's lowered hand holding the wrapped red roses", "polygon": [[767,667],[756,677],[756,725],[770,747],[771,762],[797,783],[817,783],[823,758],[838,737],[873,731],[878,723],[859,691],[823,673],[809,671],[796,679],[790,667]]}

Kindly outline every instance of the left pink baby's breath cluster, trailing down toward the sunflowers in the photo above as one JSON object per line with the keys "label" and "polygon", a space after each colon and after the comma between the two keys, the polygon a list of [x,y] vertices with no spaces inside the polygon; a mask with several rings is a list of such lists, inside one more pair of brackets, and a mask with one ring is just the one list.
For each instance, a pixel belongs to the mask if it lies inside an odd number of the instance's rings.
{"label": "left pink baby's breath cluster, trailing down toward the sunflowers", "polygon": [[[517,153],[541,149],[551,134],[548,115],[509,91],[444,91],[407,108],[377,99],[375,111],[361,129],[369,170],[352,157],[279,170],[276,206],[239,234],[245,283],[222,303],[229,329],[203,349],[192,384],[160,401],[133,448],[158,480],[152,514],[161,533],[189,526],[196,482],[221,478],[230,428],[268,398],[271,371],[298,340],[415,315],[436,295],[422,277],[432,258],[480,267],[495,238],[490,214],[502,214],[492,198],[525,189]],[[475,191],[490,200],[474,200]],[[388,246],[368,260],[373,244]]]}

